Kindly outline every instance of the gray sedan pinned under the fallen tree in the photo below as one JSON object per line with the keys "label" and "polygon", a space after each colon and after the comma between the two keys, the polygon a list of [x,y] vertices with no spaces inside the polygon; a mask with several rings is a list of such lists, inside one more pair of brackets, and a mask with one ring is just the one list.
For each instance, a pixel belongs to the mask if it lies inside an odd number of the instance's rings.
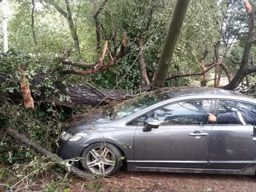
{"label": "gray sedan pinned under the fallen tree", "polygon": [[163,88],[127,100],[111,117],[66,128],[58,155],[99,176],[114,175],[124,162],[128,171],[254,175],[253,126],[210,122],[207,112],[255,106],[221,89]]}

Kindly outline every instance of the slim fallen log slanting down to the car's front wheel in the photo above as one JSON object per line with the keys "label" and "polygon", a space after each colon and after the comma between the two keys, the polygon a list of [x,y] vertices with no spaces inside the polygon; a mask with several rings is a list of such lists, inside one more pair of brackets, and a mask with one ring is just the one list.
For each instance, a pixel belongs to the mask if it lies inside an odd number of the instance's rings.
{"label": "slim fallen log slanting down to the car's front wheel", "polygon": [[[6,130],[6,133],[12,135],[15,139],[17,139],[19,142],[25,144],[26,146],[30,146],[33,148],[36,152],[40,153],[41,155],[47,156],[51,161],[53,162],[64,162],[62,158],[58,157],[54,153],[51,153],[50,151],[42,148],[37,143],[33,142],[32,140],[28,139],[25,135],[18,133],[18,131],[15,131],[13,129],[8,128]],[[82,171],[75,166],[66,166],[64,165],[62,167],[68,174],[72,174],[75,177],[82,178],[82,179],[94,179],[94,176],[88,172]]]}

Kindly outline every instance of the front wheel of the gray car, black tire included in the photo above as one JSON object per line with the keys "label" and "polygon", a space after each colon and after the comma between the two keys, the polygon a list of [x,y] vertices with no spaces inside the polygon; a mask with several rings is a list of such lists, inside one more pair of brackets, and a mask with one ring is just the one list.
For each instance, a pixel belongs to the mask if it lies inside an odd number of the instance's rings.
{"label": "front wheel of the gray car, black tire included", "polygon": [[113,176],[120,170],[123,162],[121,151],[115,145],[104,142],[90,144],[81,157],[85,158],[81,160],[83,169],[98,177]]}

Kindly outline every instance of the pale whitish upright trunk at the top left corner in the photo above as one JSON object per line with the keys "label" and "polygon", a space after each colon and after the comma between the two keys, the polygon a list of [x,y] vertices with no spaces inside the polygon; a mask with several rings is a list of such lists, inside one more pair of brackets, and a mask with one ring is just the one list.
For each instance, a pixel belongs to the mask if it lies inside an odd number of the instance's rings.
{"label": "pale whitish upright trunk at the top left corner", "polygon": [[7,1],[2,0],[2,33],[3,33],[3,53],[8,51],[8,37],[7,37],[7,13],[6,13]]}

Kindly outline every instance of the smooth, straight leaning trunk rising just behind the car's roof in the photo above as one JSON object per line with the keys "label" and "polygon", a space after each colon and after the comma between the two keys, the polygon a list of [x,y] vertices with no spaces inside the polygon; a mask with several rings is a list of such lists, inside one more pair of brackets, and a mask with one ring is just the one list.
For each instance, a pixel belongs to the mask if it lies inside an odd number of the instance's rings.
{"label": "smooth, straight leaning trunk rising just behind the car's roof", "polygon": [[189,1],[190,0],[176,0],[175,2],[172,18],[169,23],[158,68],[156,70],[153,89],[161,88],[165,85],[169,65],[172,61],[175,44],[178,40],[180,30],[185,19]]}

